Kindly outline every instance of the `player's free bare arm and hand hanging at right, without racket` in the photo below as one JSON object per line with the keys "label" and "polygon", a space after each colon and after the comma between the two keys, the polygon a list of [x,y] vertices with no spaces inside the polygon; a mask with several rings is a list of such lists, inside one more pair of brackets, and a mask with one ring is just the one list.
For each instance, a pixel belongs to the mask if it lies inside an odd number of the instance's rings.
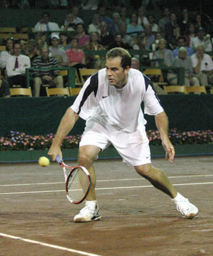
{"label": "player's free bare arm and hand hanging at right, without racket", "polygon": [[172,164],[175,157],[175,149],[170,139],[168,138],[168,117],[166,116],[165,111],[163,111],[158,115],[154,116],[154,118],[161,136],[163,148],[166,152],[166,160],[170,160],[170,163]]}

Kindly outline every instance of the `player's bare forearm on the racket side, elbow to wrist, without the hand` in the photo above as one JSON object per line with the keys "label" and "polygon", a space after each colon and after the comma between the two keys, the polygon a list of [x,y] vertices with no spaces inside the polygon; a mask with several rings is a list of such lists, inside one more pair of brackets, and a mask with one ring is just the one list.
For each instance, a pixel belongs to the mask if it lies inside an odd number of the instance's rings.
{"label": "player's bare forearm on the racket side, elbow to wrist, without the hand", "polygon": [[77,120],[77,113],[75,113],[73,109],[68,108],[61,119],[61,123],[59,124],[54,140],[52,142],[55,146],[60,147],[62,140],[64,140],[65,136],[71,131]]}

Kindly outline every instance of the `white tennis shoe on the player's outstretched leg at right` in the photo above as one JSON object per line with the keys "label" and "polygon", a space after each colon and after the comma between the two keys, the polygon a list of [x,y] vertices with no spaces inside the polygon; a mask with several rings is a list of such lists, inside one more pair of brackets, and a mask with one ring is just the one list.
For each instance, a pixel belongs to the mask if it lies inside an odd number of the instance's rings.
{"label": "white tennis shoe on the player's outstretched leg at right", "polygon": [[179,198],[175,204],[177,205],[177,211],[181,212],[187,219],[193,219],[198,214],[198,208],[191,204],[184,196]]}

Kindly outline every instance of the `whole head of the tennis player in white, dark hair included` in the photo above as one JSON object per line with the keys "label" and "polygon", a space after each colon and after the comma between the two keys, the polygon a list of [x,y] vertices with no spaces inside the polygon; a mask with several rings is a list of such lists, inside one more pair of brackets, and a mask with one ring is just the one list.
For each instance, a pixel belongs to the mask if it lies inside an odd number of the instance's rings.
{"label": "whole head of the tennis player in white, dark hair included", "polygon": [[106,71],[110,85],[122,88],[128,81],[131,55],[123,48],[113,48],[106,55]]}

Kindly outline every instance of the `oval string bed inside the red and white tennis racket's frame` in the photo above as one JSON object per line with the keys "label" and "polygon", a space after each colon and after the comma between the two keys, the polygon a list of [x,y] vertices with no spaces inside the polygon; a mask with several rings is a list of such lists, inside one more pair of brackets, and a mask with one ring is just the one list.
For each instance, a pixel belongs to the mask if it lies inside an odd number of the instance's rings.
{"label": "oval string bed inside the red and white tennis racket's frame", "polygon": [[73,202],[78,202],[87,193],[88,188],[88,176],[81,168],[77,168],[71,172],[68,177],[66,188],[67,195]]}

